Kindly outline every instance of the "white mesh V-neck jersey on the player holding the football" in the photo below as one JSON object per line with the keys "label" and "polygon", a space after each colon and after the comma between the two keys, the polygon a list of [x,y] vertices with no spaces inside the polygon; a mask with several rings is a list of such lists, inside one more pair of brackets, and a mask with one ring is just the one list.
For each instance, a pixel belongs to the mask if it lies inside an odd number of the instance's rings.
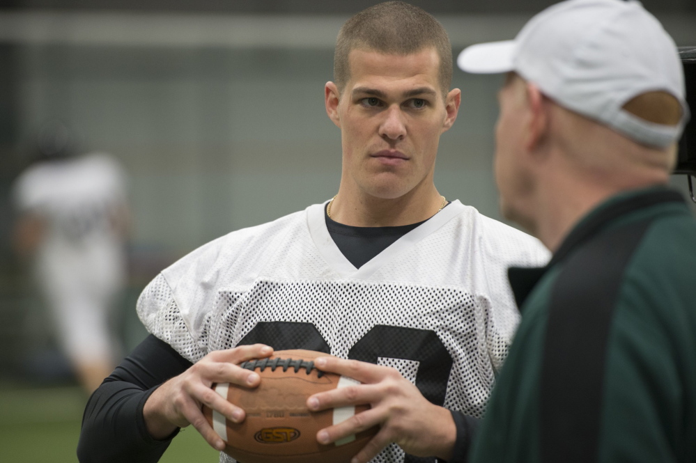
{"label": "white mesh V-neck jersey on the player holding the football", "polygon": [[[507,267],[544,265],[546,248],[454,201],[356,269],[324,205],[185,256],[144,290],[141,320],[193,362],[252,343],[330,352],[397,368],[431,402],[481,416],[519,319]],[[404,459],[420,460],[392,444],[374,461]]]}

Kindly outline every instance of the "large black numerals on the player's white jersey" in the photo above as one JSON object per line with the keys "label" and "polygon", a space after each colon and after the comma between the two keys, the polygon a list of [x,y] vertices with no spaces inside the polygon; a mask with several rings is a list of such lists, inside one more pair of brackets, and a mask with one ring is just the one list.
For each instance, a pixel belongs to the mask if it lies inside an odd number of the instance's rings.
{"label": "large black numerals on the player's white jersey", "polygon": [[[258,322],[239,344],[255,343],[270,345],[274,350],[307,349],[330,353],[329,344],[311,323]],[[378,324],[348,352],[348,359],[370,363],[378,363],[379,357],[419,362],[417,388],[433,404],[444,405],[452,358],[435,331]],[[404,462],[433,462],[433,459],[406,455]]]}

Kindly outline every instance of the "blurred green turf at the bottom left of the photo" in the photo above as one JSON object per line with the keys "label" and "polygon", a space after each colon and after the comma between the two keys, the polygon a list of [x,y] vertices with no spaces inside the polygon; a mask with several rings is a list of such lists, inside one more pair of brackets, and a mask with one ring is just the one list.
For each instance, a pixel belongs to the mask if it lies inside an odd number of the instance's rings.
{"label": "blurred green turf at the bottom left of the photo", "polygon": [[[86,398],[77,387],[0,389],[0,462],[75,463]],[[193,427],[179,433],[163,463],[217,462]],[[124,462],[127,463],[127,462]]]}

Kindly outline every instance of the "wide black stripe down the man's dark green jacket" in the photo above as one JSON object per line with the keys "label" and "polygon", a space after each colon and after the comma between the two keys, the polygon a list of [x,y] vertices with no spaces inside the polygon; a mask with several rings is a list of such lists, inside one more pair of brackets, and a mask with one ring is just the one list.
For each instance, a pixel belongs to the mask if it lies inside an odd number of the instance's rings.
{"label": "wide black stripe down the man's dark green jacket", "polygon": [[571,255],[550,296],[540,386],[543,463],[598,458],[607,339],[628,265],[651,220],[597,237]]}

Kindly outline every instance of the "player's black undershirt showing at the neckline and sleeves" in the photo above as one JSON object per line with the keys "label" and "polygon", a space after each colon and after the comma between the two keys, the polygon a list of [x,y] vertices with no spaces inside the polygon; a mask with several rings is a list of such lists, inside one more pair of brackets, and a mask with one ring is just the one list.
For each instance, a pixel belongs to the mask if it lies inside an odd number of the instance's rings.
{"label": "player's black undershirt showing at the neckline and sleeves", "polygon": [[[449,203],[448,203],[449,204]],[[423,222],[395,227],[354,227],[333,221],[324,212],[326,226],[343,253],[362,267],[400,237]],[[157,386],[180,375],[193,364],[169,344],[148,336],[116,367],[89,399],[82,418],[77,446],[80,463],[155,463],[167,450],[168,439],[157,441],[148,434],[143,407]],[[453,412],[457,426],[454,459],[464,462],[477,420]]]}

